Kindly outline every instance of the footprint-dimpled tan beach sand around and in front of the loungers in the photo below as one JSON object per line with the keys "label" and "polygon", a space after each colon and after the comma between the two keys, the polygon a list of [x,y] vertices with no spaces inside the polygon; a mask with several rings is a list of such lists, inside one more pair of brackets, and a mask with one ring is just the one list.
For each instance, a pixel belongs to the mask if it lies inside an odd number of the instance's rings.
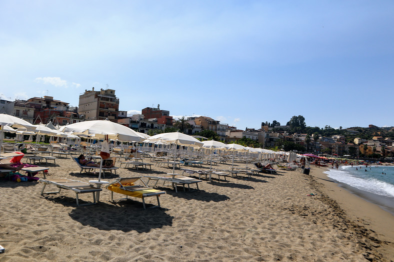
{"label": "footprint-dimpled tan beach sand around and in front of the loungers", "polygon": [[[69,158],[47,166],[48,179],[88,182],[97,178],[79,175]],[[230,167],[231,163],[215,166]],[[199,190],[178,193],[159,187],[166,192],[160,197],[161,208],[146,210],[136,198],[113,204],[106,189],[97,205],[77,207],[75,194],[68,190],[41,197],[40,183],[0,181],[0,245],[5,248],[0,261],[392,260],[392,232],[386,234],[384,227],[392,229],[393,216],[322,180],[322,170],[312,168],[310,175],[278,170],[276,175],[251,179],[228,177],[226,182],[202,179]],[[120,168],[117,175],[171,171],[152,165],[152,171]],[[346,194],[344,202],[354,204],[344,205],[332,197],[335,189]],[[316,196],[307,196],[310,193]],[[83,194],[80,199],[91,201],[92,197]],[[147,198],[146,203],[153,206],[156,200]],[[355,205],[374,208],[385,217],[373,223],[375,217],[350,208]]]}

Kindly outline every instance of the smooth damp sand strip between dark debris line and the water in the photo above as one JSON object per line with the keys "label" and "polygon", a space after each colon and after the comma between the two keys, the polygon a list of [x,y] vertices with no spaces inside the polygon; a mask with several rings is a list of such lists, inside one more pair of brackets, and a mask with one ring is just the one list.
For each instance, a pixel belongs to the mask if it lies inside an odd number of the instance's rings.
{"label": "smooth damp sand strip between dark debris line and the water", "polygon": [[[352,187],[350,189],[350,186],[329,178],[323,173],[327,170],[329,169],[311,168],[309,174],[320,184],[319,189],[336,201],[351,220],[376,233],[379,239],[393,242],[394,215],[373,203],[374,197],[366,194],[368,192],[360,192],[361,190]],[[391,252],[394,257],[394,251]]]}

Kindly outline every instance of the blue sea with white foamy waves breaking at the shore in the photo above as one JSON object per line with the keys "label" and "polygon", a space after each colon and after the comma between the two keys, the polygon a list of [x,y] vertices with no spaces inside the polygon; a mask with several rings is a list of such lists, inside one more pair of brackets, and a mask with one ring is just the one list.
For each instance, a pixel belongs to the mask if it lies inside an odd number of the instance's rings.
{"label": "blue sea with white foamy waves breaking at the shore", "polygon": [[340,166],[324,173],[341,187],[394,216],[394,166]]}

